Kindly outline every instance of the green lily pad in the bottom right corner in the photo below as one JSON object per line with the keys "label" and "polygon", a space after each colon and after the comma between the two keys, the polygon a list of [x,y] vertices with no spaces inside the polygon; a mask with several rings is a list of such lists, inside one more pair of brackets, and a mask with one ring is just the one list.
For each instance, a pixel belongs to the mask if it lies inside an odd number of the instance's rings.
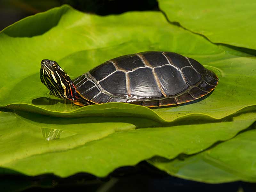
{"label": "green lily pad in the bottom right corner", "polygon": [[171,175],[189,180],[256,182],[255,137],[254,129],[196,155],[174,160],[154,157],[148,162]]}

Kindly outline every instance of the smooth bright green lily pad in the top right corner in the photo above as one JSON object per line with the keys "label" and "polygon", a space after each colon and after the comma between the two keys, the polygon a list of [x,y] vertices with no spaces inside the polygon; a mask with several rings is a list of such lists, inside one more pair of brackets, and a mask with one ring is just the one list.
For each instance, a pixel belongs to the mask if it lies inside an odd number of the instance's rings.
{"label": "smooth bright green lily pad in the top right corner", "polygon": [[256,49],[252,39],[256,33],[253,0],[158,0],[170,21],[202,34],[214,43]]}

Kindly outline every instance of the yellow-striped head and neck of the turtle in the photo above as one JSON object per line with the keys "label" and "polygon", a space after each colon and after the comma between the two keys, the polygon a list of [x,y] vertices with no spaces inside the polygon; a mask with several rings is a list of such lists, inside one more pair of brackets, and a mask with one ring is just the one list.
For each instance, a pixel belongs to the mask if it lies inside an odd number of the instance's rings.
{"label": "yellow-striped head and neck of the turtle", "polygon": [[56,61],[48,59],[41,61],[40,79],[52,95],[61,99],[74,100],[76,88],[68,74]]}

